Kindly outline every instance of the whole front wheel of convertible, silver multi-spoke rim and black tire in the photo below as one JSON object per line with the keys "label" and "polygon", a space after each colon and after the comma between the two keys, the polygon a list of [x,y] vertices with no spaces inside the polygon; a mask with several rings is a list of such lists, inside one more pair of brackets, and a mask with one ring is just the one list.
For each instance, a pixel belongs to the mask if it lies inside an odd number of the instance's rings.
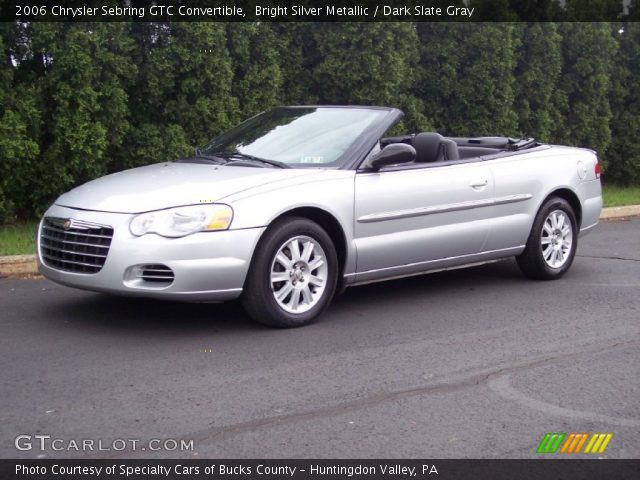
{"label": "whole front wheel of convertible, silver multi-spoke rim and black tire", "polygon": [[272,327],[311,323],[329,306],[338,279],[331,238],[315,222],[285,217],[260,241],[247,275],[242,304]]}

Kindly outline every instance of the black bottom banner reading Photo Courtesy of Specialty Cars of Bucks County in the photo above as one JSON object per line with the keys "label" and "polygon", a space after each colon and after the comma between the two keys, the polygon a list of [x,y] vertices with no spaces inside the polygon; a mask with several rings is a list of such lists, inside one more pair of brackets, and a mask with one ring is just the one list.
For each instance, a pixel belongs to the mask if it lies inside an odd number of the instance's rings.
{"label": "black bottom banner reading Photo Courtesy of Specialty Cars of Bucks County", "polygon": [[2,480],[640,479],[640,460],[0,460]]}

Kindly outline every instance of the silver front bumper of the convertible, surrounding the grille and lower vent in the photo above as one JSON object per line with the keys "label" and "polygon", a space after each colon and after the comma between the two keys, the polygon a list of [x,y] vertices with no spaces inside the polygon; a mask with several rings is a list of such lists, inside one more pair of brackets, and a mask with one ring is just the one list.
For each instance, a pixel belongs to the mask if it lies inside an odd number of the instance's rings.
{"label": "silver front bumper of the convertible, surrounding the grille and lower vent", "polygon": [[[48,279],[70,287],[139,297],[194,302],[237,298],[242,293],[253,251],[265,227],[200,232],[182,238],[156,234],[136,237],[129,231],[133,215],[94,212],[53,205],[45,217],[73,218],[113,227],[113,239],[98,273],[51,268],[43,261],[38,227],[38,268]],[[41,222],[42,223],[42,222]],[[163,264],[174,272],[170,285],[140,281],[140,265]]]}

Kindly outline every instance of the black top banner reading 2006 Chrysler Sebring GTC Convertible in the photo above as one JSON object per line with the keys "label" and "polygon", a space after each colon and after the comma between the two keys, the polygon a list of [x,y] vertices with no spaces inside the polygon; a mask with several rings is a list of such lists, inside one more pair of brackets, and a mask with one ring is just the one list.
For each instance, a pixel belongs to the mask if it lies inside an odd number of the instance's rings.
{"label": "black top banner reading 2006 Chrysler Sebring GTC Convertible", "polygon": [[0,0],[1,21],[546,22],[639,21],[638,1]]}

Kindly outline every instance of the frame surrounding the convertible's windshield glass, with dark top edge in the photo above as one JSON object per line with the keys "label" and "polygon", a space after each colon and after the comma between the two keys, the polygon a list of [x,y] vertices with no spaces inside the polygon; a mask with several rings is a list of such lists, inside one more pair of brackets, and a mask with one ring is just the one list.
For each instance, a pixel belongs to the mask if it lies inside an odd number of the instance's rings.
{"label": "frame surrounding the convertible's windshield glass, with dark top edge", "polygon": [[[376,142],[382,137],[382,135],[393,125],[395,124],[402,116],[404,115],[401,110],[393,107],[377,107],[377,106],[360,106],[360,105],[294,105],[294,106],[280,106],[274,107],[269,110],[265,110],[260,112],[257,115],[254,115],[251,118],[243,121],[237,126],[217,135],[211,141],[209,141],[205,146],[201,147],[199,151],[203,154],[213,154],[215,151],[214,145],[219,142],[219,140],[232,134],[236,130],[241,130],[243,126],[255,118],[266,115],[269,112],[279,109],[285,110],[293,110],[293,109],[361,109],[361,110],[376,110],[376,111],[386,111],[386,115],[382,116],[378,121],[373,122],[369,125],[359,136],[355,138],[355,140],[351,143],[351,145],[334,161],[331,163],[290,163],[291,168],[329,168],[329,169],[342,169],[342,170],[355,170],[357,165],[366,157],[366,155],[371,151],[371,149],[375,146]],[[209,152],[211,150],[211,152]]]}

